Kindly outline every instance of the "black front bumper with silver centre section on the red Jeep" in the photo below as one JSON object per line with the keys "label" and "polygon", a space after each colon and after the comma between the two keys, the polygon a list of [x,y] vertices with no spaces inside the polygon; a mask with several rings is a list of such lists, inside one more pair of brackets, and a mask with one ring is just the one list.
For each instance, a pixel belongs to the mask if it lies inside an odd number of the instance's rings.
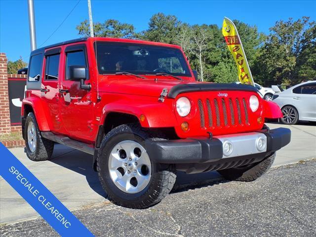
{"label": "black front bumper with silver centre section on the red Jeep", "polygon": [[[258,139],[266,142],[258,150]],[[223,144],[229,141],[233,149],[223,154]],[[288,128],[264,129],[257,132],[216,136],[212,139],[188,138],[167,141],[146,141],[150,158],[157,163],[189,164],[231,161],[234,158],[262,160],[289,144],[291,130]],[[262,148],[262,147],[261,147]]]}

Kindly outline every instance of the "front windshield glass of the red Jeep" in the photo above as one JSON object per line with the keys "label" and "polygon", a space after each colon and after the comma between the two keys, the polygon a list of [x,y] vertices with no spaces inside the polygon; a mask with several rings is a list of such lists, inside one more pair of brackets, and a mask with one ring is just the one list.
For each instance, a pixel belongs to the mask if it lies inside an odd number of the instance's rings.
{"label": "front windshield glass of the red Jeep", "polygon": [[147,44],[97,42],[96,57],[99,74],[128,72],[191,77],[181,50]]}

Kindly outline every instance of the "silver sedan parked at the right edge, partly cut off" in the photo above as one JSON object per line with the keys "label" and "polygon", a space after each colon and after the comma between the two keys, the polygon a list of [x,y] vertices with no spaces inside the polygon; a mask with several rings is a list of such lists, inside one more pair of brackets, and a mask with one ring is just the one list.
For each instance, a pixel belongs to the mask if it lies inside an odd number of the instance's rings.
{"label": "silver sedan parked at the right edge, partly cut off", "polygon": [[273,96],[281,108],[285,124],[295,124],[299,120],[316,121],[316,81],[294,85]]}

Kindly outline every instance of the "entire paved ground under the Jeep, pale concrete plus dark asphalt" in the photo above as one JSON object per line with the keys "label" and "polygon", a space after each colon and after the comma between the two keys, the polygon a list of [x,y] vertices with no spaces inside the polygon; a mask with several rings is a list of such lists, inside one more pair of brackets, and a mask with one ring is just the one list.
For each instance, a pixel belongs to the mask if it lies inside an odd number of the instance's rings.
{"label": "entire paved ground under the Jeep, pale concrete plus dark asphalt", "polygon": [[[55,159],[32,162],[22,148],[11,152],[96,236],[315,236],[316,126],[285,127],[292,141],[264,177],[239,183],[217,172],[180,174],[178,190],[146,210],[111,204],[89,155],[58,145]],[[0,192],[1,236],[57,235],[2,178]]]}

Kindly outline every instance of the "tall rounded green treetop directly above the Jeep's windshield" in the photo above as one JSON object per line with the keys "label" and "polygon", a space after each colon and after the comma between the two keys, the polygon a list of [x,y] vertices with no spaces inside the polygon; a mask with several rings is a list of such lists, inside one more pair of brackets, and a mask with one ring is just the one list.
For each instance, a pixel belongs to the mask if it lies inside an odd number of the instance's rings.
{"label": "tall rounded green treetop directly above the Jeep's windshield", "polygon": [[143,40],[177,43],[177,36],[181,31],[181,21],[173,15],[161,12],[153,15],[148,24],[148,30],[143,31],[139,37]]}

